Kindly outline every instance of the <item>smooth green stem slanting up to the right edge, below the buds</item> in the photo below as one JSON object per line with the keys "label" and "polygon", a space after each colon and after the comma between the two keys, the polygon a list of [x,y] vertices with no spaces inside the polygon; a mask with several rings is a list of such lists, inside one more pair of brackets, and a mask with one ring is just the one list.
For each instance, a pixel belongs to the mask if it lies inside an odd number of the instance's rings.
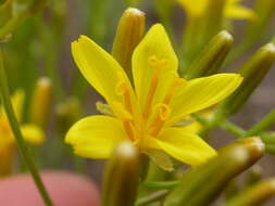
{"label": "smooth green stem slanting up to the right edge, below the buds", "polygon": [[263,119],[255,124],[251,129],[247,131],[245,137],[251,137],[260,133],[261,131],[267,129],[275,123],[275,110],[267,114]]}

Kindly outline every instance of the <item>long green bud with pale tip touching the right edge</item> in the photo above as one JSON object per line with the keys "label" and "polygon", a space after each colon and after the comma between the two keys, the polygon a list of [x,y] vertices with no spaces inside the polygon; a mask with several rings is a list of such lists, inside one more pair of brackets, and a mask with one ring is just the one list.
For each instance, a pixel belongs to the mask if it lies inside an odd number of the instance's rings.
{"label": "long green bud with pale tip touching the right edge", "polygon": [[261,83],[275,62],[275,46],[267,43],[255,52],[238,70],[243,77],[240,87],[228,96],[218,107],[218,116],[228,116],[236,113]]}

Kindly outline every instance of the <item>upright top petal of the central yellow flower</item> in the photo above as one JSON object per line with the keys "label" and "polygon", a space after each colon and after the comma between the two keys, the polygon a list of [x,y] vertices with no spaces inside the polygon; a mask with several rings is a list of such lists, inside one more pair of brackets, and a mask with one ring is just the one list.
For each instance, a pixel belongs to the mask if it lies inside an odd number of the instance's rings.
{"label": "upright top petal of the central yellow flower", "polygon": [[[133,54],[133,77],[140,105],[143,108],[153,74],[160,72],[158,88],[152,96],[165,95],[171,78],[175,77],[178,61],[164,27],[153,25]],[[159,96],[159,99],[161,99]]]}

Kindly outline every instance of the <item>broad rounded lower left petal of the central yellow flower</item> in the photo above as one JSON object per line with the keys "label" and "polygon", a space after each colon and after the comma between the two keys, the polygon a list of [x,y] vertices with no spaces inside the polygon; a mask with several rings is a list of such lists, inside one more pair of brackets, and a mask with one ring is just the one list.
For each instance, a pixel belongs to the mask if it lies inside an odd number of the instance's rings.
{"label": "broad rounded lower left petal of the central yellow flower", "polygon": [[115,145],[127,137],[122,123],[109,116],[90,116],[77,121],[67,132],[65,141],[83,157],[108,158]]}

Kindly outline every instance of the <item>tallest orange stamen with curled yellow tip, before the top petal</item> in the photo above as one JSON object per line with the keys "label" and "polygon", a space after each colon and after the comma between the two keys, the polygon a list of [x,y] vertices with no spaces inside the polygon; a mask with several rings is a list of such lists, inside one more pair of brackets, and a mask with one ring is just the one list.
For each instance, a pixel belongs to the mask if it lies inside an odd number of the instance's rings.
{"label": "tallest orange stamen with curled yellow tip, before the top petal", "polygon": [[143,117],[148,118],[149,114],[150,114],[150,110],[151,110],[151,104],[153,101],[153,96],[154,93],[157,91],[157,86],[159,82],[159,78],[160,78],[160,74],[161,74],[161,69],[164,67],[164,65],[166,64],[166,60],[158,60],[158,57],[150,56],[148,59],[149,64],[153,67],[154,72],[151,78],[151,82],[149,86],[149,90],[148,90],[148,95],[147,95],[147,100],[146,100],[146,104],[145,104],[145,111],[143,111]]}

